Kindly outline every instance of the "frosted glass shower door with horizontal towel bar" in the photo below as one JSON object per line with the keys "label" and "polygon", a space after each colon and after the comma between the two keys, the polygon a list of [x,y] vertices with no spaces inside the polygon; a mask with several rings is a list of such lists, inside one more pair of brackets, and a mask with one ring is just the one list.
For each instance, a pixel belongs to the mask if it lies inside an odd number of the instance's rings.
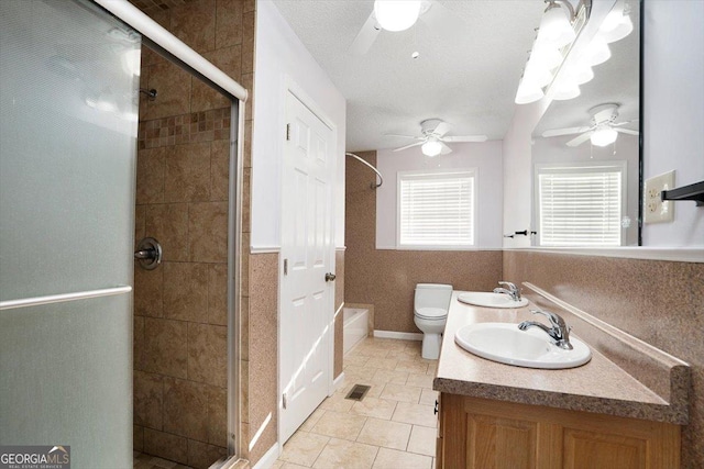
{"label": "frosted glass shower door with horizontal towel bar", "polygon": [[141,37],[88,1],[0,1],[0,445],[132,466]]}

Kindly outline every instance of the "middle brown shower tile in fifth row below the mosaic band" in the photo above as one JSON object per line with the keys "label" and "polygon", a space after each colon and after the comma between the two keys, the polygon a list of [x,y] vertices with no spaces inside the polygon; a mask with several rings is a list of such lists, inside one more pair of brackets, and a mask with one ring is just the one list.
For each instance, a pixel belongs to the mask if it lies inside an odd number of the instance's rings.
{"label": "middle brown shower tile in fifth row below the mosaic band", "polygon": [[164,378],[164,431],[189,439],[208,440],[206,384]]}

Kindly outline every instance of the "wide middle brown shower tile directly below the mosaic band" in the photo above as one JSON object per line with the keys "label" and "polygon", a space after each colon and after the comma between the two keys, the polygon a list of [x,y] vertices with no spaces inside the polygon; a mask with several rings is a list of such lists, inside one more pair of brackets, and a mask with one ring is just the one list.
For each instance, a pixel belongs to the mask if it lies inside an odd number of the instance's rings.
{"label": "wide middle brown shower tile directly below the mosaic band", "polygon": [[210,143],[169,147],[164,198],[167,202],[210,200]]}

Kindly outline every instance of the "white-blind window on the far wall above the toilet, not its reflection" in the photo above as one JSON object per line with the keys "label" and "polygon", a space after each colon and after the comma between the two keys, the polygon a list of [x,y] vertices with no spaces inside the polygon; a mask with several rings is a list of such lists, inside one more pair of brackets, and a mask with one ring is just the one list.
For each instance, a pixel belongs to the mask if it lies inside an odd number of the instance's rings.
{"label": "white-blind window on the far wall above the toilet, not its reflection", "polygon": [[474,246],[476,170],[398,174],[400,248]]}

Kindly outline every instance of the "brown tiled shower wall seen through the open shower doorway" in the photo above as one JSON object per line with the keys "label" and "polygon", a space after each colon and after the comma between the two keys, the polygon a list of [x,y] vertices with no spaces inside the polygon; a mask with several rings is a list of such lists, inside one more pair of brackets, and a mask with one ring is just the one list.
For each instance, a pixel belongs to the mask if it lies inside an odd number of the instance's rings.
{"label": "brown tiled shower wall seen through the open shower doorway", "polygon": [[[254,2],[173,4],[147,13],[251,89]],[[164,261],[135,269],[134,446],[208,467],[227,453],[230,101],[146,47],[141,87],[158,94],[140,97],[135,237]]]}

